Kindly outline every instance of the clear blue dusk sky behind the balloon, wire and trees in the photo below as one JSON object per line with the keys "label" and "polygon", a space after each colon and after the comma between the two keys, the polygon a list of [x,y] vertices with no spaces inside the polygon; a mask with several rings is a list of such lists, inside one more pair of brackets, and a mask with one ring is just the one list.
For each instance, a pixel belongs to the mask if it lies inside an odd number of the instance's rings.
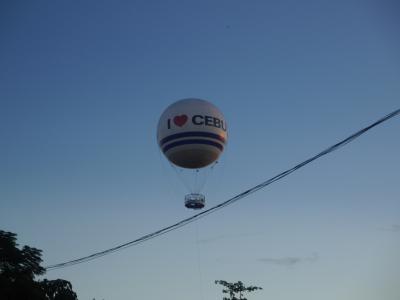
{"label": "clear blue dusk sky behind the balloon, wire and trees", "polygon": [[[229,146],[215,205],[399,108],[396,1],[13,1],[0,5],[0,228],[44,264],[190,216],[156,143],[205,98]],[[158,239],[49,272],[79,299],[400,295],[399,120]]]}

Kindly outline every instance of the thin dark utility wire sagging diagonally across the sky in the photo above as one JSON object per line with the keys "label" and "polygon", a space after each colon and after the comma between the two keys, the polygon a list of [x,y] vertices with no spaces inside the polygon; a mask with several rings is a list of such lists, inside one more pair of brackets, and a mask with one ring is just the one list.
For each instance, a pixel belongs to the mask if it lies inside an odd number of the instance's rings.
{"label": "thin dark utility wire sagging diagonally across the sky", "polygon": [[288,170],[286,170],[286,171],[284,171],[282,173],[279,173],[278,175],[276,175],[276,176],[274,176],[274,177],[272,177],[272,178],[270,178],[270,179],[268,179],[268,180],[266,180],[266,181],[264,181],[264,182],[262,182],[262,183],[260,183],[260,184],[258,184],[256,186],[254,186],[254,187],[252,187],[252,188],[250,188],[250,189],[248,189],[248,190],[246,190],[246,191],[244,191],[244,192],[242,192],[242,193],[240,193],[240,194],[238,194],[238,195],[236,195],[236,196],[234,196],[234,197],[232,197],[232,198],[230,198],[230,199],[228,199],[228,200],[226,200],[224,202],[221,202],[220,204],[217,204],[217,205],[215,205],[215,206],[213,206],[213,207],[211,207],[209,209],[203,210],[202,212],[200,212],[198,214],[195,214],[195,215],[193,215],[193,216],[191,216],[189,218],[183,219],[183,220],[181,220],[181,221],[179,221],[179,222],[177,222],[175,224],[172,224],[170,226],[164,227],[164,228],[159,229],[157,231],[154,231],[152,233],[146,234],[146,235],[144,235],[142,237],[139,237],[139,238],[137,238],[137,239],[135,239],[133,241],[129,241],[129,242],[126,242],[124,244],[121,244],[121,245],[118,245],[118,246],[115,246],[115,247],[112,247],[112,248],[109,248],[109,249],[106,249],[106,250],[103,250],[103,251],[99,251],[99,252],[93,253],[93,254],[88,255],[88,256],[84,256],[84,257],[81,257],[81,258],[73,259],[73,260],[70,260],[70,261],[63,262],[63,263],[49,265],[49,266],[45,267],[45,269],[50,271],[50,270],[54,270],[54,269],[65,268],[65,267],[81,264],[81,263],[84,263],[84,262],[88,262],[88,261],[91,261],[93,259],[102,257],[104,255],[108,255],[108,254],[111,254],[113,252],[120,251],[122,249],[138,245],[138,244],[143,243],[143,242],[145,242],[147,240],[153,239],[155,237],[158,237],[160,235],[166,234],[166,233],[168,233],[170,231],[173,231],[173,230],[176,230],[176,229],[178,229],[180,227],[183,227],[183,226],[185,226],[185,225],[187,225],[187,224],[189,224],[191,222],[194,222],[194,221],[196,221],[196,220],[198,220],[198,219],[200,219],[202,217],[205,217],[205,216],[207,216],[207,215],[209,215],[209,214],[211,214],[211,213],[213,213],[213,212],[215,212],[215,211],[217,211],[217,210],[219,210],[221,208],[224,208],[224,207],[226,207],[228,205],[231,205],[231,204],[235,203],[236,201],[239,201],[239,200],[249,196],[250,194],[253,194],[253,193],[257,192],[258,190],[263,189],[266,186],[268,186],[268,185],[270,185],[270,184],[272,184],[272,183],[274,183],[274,182],[276,182],[278,180],[281,180],[282,178],[284,178],[284,177],[288,176],[289,174],[293,173],[294,171],[296,171],[296,170],[304,167],[305,165],[313,162],[314,160],[316,160],[316,159],[318,159],[318,158],[320,158],[320,157],[322,157],[324,155],[327,155],[327,154],[329,154],[329,153],[331,153],[333,151],[338,150],[339,148],[341,148],[341,147],[345,146],[346,144],[352,142],[353,140],[355,140],[356,138],[358,138],[362,134],[366,133],[370,129],[374,128],[375,126],[378,126],[379,124],[381,124],[381,123],[383,123],[383,122],[385,122],[385,121],[387,121],[387,120],[389,120],[389,119],[391,119],[391,118],[393,118],[393,117],[395,117],[395,116],[397,116],[399,114],[400,114],[400,109],[397,109],[397,110],[391,112],[390,114],[382,117],[381,119],[377,120],[376,122],[372,123],[371,125],[369,125],[369,126],[363,128],[363,129],[357,131],[356,133],[350,135],[349,137],[345,138],[344,140],[334,144],[333,146],[330,146],[329,148],[321,151],[320,153],[314,155],[313,157],[311,157],[311,158],[309,158],[309,159],[307,159],[307,160],[295,165],[294,167],[292,167],[292,168],[290,168],[290,169],[288,169]]}

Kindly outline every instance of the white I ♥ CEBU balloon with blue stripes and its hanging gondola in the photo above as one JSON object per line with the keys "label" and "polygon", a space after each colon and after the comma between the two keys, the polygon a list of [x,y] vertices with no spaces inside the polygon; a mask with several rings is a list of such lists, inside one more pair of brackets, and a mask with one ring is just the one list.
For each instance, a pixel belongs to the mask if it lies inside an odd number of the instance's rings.
{"label": "white I \u2665 CEBU balloon with blue stripes and its hanging gondola", "polygon": [[[212,103],[196,98],[179,100],[166,108],[158,122],[157,141],[172,166],[198,173],[213,166],[227,143],[226,121]],[[185,206],[201,209],[205,196],[191,190]]]}

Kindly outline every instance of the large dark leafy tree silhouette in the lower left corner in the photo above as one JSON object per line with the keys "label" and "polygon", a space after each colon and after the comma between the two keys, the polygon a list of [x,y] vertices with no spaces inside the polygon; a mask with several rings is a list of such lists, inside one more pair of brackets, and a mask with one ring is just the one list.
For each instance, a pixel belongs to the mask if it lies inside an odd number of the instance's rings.
{"label": "large dark leafy tree silhouette in the lower left corner", "polygon": [[17,235],[0,230],[1,300],[77,300],[70,282],[62,279],[35,281],[46,270],[40,266],[42,251],[18,248]]}

